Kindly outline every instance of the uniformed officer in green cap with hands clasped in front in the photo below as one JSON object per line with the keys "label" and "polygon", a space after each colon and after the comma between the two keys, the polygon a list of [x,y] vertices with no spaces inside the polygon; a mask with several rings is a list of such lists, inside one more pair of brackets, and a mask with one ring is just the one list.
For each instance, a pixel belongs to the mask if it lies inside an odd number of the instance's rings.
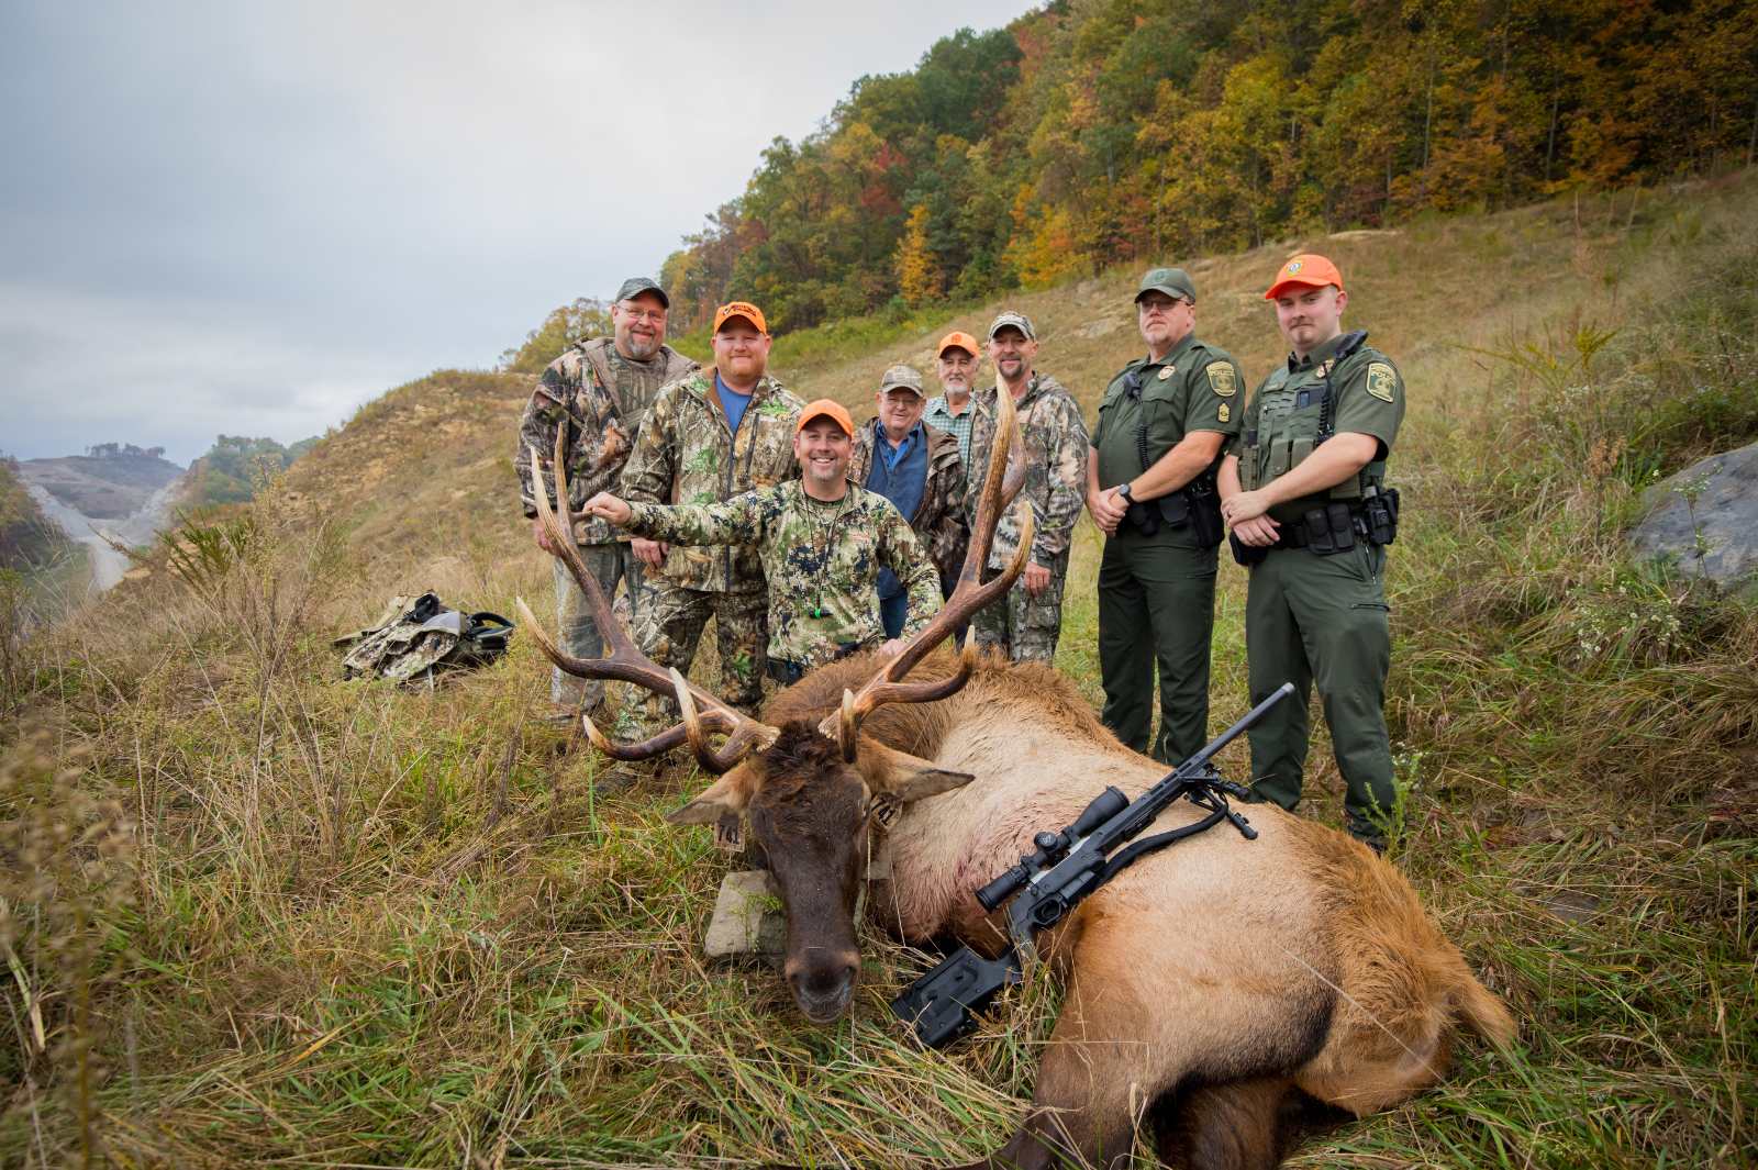
{"label": "uniformed officer in green cap with hands clasped in front", "polygon": [[1137,752],[1153,722],[1153,757],[1174,764],[1208,740],[1215,550],[1222,541],[1215,471],[1239,432],[1245,378],[1195,337],[1197,290],[1183,269],[1151,269],[1136,293],[1148,357],[1111,379],[1086,460],[1086,508],[1106,534],[1099,564],[1099,673],[1104,724]]}

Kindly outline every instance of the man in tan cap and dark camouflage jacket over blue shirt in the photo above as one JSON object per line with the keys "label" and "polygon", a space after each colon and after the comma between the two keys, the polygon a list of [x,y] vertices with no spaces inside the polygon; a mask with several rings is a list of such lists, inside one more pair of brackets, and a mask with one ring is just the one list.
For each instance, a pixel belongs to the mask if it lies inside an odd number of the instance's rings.
{"label": "man in tan cap and dark camouflage jacket over blue shirt", "polygon": [[[854,434],[849,480],[897,502],[898,492],[886,487],[897,487],[897,478],[914,466],[914,457],[921,457],[921,478],[904,485],[905,499],[914,499],[909,527],[933,559],[933,567],[941,573],[941,597],[948,597],[958,583],[965,546],[970,543],[970,529],[965,525],[965,460],[958,455],[958,439],[921,422],[926,402],[921,397],[921,374],[912,367],[888,369],[875,397],[879,416]],[[918,441],[921,451],[898,451]],[[875,471],[888,471],[884,462],[877,467],[874,464],[879,443],[902,455],[898,469],[884,476],[884,485],[875,478]],[[886,585],[881,583],[881,597],[886,596]],[[886,629],[891,629],[890,622]]]}

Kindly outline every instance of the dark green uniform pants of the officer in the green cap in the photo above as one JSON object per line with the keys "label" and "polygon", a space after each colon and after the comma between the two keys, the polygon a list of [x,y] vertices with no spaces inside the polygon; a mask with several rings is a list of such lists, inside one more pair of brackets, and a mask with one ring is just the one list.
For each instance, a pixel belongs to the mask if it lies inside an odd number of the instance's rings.
{"label": "dark green uniform pants of the officer in the green cap", "polygon": [[1099,673],[1104,726],[1148,750],[1153,668],[1160,734],[1153,759],[1176,764],[1208,743],[1208,664],[1215,632],[1215,550],[1181,548],[1127,524],[1099,562]]}

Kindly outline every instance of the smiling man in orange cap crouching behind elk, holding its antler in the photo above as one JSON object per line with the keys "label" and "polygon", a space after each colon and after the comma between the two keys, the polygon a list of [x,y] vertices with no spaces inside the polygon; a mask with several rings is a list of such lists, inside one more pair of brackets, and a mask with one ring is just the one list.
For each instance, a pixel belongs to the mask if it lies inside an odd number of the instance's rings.
{"label": "smiling man in orange cap crouching behind elk, holding its antler", "polygon": [[719,504],[665,506],[608,492],[587,509],[633,532],[675,545],[740,545],[763,562],[768,581],[768,671],[798,682],[807,671],[856,650],[883,646],[879,571],[909,590],[912,638],[941,610],[941,590],[904,515],[877,492],[849,481],[849,413],[830,399],[807,406],[793,439],[803,480],[761,487]]}

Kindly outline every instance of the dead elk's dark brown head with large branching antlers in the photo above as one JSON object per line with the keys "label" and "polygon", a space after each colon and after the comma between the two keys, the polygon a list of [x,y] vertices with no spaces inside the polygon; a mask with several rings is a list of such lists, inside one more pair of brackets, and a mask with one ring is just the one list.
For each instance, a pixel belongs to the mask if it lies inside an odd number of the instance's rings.
{"label": "dead elk's dark brown head with large branching antlers", "polygon": [[[1025,481],[1025,450],[1013,395],[997,392],[997,434],[1006,434],[1006,455],[984,471],[970,548],[958,587],[932,622],[895,657],[877,664],[858,692],[844,690],[842,706],[821,724],[789,722],[772,727],[726,706],[693,685],[675,669],[663,669],[643,657],[612,617],[598,581],[580,560],[570,536],[550,508],[541,483],[538,453],[531,453],[533,492],[538,515],[561,550],[556,555],[580,585],[598,631],[610,646],[603,659],[575,659],[543,632],[524,599],[519,615],[538,646],[556,666],[580,678],[615,678],[650,690],[675,694],[680,722],[640,743],[614,743],[592,722],[585,731],[592,745],[615,759],[647,759],[689,743],[716,780],[694,801],[668,817],[673,824],[712,824],[738,831],[749,824],[770,859],[775,884],[788,912],[784,971],[795,1003],[807,1019],[825,1024],[840,1019],[854,996],[860,947],[854,914],[874,824],[890,824],[909,803],[969,784],[969,773],[946,771],[933,762],[863,736],[861,720],[886,703],[928,703],[955,694],[976,666],[976,643],[967,638],[955,671],[944,678],[909,682],[907,675],[937,645],[977,610],[1000,597],[1025,569],[1032,548],[1032,513],[1021,515],[1020,548],[1011,564],[983,581],[1000,511]],[[552,462],[556,499],[568,499],[561,436]],[[716,747],[710,736],[724,741]]]}

